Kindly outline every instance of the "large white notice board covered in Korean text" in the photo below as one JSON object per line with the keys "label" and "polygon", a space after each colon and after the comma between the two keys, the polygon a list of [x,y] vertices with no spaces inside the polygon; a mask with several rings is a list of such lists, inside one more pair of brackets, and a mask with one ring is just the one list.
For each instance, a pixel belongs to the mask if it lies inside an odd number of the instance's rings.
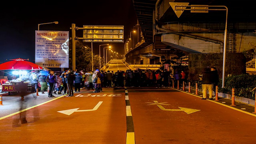
{"label": "large white notice board covered in Korean text", "polygon": [[68,68],[68,31],[36,30],[35,63],[44,68]]}

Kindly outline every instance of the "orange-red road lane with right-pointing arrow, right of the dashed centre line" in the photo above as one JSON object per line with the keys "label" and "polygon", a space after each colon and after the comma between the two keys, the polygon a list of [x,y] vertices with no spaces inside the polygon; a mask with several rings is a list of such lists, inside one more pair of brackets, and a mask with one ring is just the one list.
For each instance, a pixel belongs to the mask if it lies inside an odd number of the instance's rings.
{"label": "orange-red road lane with right-pointing arrow, right of the dashed centre line", "polygon": [[[178,91],[129,90],[129,99],[136,143],[168,140],[175,140],[176,143],[186,143],[186,140],[190,143],[211,143],[214,140],[221,143],[230,139],[240,143],[249,142],[246,140],[248,136],[255,136],[253,129],[256,126],[252,126],[255,117]],[[241,130],[246,127],[250,130],[243,131],[241,136]]]}

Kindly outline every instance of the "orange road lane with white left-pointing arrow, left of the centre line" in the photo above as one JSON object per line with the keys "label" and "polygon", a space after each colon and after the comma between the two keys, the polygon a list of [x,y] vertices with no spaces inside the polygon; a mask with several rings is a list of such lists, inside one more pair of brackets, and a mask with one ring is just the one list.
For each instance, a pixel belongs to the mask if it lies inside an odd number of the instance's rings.
{"label": "orange road lane with white left-pointing arrow, left of the centre line", "polygon": [[[27,120],[26,124],[20,123],[21,117],[18,114],[1,120],[1,130],[8,132],[8,135],[5,133],[0,138],[7,143],[19,140],[20,144],[47,141],[55,144],[74,143],[74,141],[86,142],[86,144],[95,142],[124,144],[126,140],[124,93],[114,93],[90,93],[88,97],[82,95],[89,94],[81,94],[78,97],[75,95],[30,108],[25,113],[20,113]],[[99,102],[102,103],[94,111],[74,112],[70,115],[58,112],[74,108],[90,110]],[[16,127],[12,127],[13,123],[16,123]]]}

